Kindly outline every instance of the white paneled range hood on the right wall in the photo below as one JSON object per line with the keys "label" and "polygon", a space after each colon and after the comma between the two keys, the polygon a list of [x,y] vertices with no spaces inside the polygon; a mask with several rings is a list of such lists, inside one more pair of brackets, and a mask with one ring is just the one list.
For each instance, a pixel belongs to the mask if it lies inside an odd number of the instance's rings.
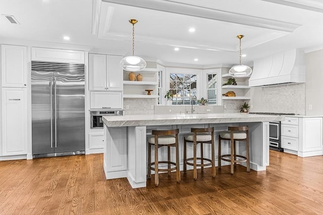
{"label": "white paneled range hood on the right wall", "polygon": [[305,82],[305,58],[300,49],[253,61],[249,87],[267,87]]}

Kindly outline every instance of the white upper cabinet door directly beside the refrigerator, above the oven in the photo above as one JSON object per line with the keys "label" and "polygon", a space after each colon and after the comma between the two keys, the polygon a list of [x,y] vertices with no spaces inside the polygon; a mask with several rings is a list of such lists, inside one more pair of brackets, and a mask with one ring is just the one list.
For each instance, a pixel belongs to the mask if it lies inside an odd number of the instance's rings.
{"label": "white upper cabinet door directly beside the refrigerator, above the oven", "polygon": [[89,54],[89,90],[107,90],[105,54]]}

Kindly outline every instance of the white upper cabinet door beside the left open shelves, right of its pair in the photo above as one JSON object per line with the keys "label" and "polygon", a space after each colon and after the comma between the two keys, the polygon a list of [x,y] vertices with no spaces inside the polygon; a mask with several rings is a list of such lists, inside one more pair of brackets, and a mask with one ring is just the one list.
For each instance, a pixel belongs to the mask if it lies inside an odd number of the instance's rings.
{"label": "white upper cabinet door beside the left open shelves, right of its pair", "polygon": [[123,69],[120,66],[121,56],[106,55],[107,90],[123,90]]}

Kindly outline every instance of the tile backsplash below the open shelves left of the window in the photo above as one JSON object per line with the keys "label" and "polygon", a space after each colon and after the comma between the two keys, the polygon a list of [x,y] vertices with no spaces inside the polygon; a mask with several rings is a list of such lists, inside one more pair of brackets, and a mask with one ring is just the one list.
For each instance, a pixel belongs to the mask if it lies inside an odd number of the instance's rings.
{"label": "tile backsplash below the open shelves left of the window", "polygon": [[141,99],[141,98],[125,98],[123,100],[124,109],[129,105],[129,110],[125,110],[125,114],[153,114],[154,110],[150,108],[155,106],[156,99]]}

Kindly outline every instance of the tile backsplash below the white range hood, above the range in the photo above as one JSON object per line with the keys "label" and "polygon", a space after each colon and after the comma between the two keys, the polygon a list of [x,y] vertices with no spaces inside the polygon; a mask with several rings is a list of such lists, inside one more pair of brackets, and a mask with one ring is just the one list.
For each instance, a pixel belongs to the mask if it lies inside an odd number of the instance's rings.
{"label": "tile backsplash below the white range hood, above the range", "polygon": [[250,112],[305,114],[305,84],[252,89]]}

